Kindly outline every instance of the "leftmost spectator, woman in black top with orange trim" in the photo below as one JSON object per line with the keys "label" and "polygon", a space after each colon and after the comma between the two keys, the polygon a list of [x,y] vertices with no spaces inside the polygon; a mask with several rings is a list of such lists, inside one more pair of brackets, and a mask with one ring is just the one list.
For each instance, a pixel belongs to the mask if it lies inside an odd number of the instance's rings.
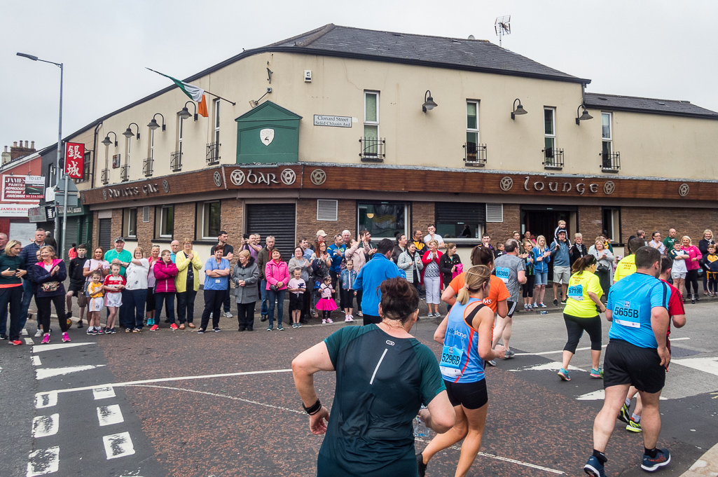
{"label": "leftmost spectator, woman in black top with orange trim", "polygon": [[[20,341],[20,310],[22,310],[22,277],[27,274],[24,260],[20,259],[22,245],[11,240],[5,246],[5,253],[0,254],[0,315],[3,320],[7,316],[7,305],[10,305],[9,343],[22,345]],[[6,340],[8,336],[3,335]]]}

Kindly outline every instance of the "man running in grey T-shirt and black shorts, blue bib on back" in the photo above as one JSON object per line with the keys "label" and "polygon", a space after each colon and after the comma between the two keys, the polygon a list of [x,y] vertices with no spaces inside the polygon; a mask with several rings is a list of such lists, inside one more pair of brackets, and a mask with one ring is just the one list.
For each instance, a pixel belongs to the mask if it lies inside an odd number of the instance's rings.
{"label": "man running in grey T-shirt and black shorts, blue bib on back", "polygon": [[513,358],[515,354],[508,347],[508,341],[511,338],[511,325],[513,325],[513,312],[516,311],[518,302],[521,301],[521,285],[526,283],[526,264],[523,259],[518,258],[520,250],[518,249],[518,241],[510,238],[503,247],[505,254],[498,257],[495,261],[494,272],[496,277],[500,278],[506,285],[506,289],[511,297],[506,305],[508,312],[506,317],[496,318],[496,325],[493,330],[492,348],[496,346],[499,338],[503,341],[503,347],[506,350],[506,358]]}

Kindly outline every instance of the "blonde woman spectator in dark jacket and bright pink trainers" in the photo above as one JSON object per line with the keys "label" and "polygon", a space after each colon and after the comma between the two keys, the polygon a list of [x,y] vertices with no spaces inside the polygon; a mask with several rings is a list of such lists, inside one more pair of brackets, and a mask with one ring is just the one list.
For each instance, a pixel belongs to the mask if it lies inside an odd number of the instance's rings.
{"label": "blonde woman spectator in dark jacket and bright pink trainers", "polygon": [[57,320],[60,321],[62,341],[70,341],[67,335],[67,318],[65,318],[65,286],[62,282],[67,278],[65,262],[55,258],[55,249],[46,245],[40,247],[40,259],[32,266],[32,281],[37,285],[35,296],[40,319],[42,320],[42,344],[50,343],[50,304],[55,305]]}

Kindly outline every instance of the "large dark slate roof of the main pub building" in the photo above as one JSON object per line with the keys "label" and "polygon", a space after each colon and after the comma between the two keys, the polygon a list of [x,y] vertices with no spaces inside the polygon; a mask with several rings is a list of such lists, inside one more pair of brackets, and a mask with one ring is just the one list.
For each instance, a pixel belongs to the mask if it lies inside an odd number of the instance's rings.
{"label": "large dark slate roof of the main pub building", "polygon": [[313,55],[366,57],[375,61],[430,65],[438,68],[546,78],[572,83],[591,82],[541,65],[486,40],[381,32],[340,27],[331,23],[261,49],[280,48],[282,51],[290,49]]}

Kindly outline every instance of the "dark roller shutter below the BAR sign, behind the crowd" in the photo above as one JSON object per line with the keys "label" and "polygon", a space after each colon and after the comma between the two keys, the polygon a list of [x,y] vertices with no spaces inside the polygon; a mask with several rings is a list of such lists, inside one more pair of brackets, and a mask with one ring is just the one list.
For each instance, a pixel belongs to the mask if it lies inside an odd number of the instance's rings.
{"label": "dark roller shutter below the BAR sign, behind the crowd", "polygon": [[289,261],[296,245],[294,204],[248,204],[246,233],[259,233],[262,246],[269,235],[276,239],[276,248],[281,258]]}

